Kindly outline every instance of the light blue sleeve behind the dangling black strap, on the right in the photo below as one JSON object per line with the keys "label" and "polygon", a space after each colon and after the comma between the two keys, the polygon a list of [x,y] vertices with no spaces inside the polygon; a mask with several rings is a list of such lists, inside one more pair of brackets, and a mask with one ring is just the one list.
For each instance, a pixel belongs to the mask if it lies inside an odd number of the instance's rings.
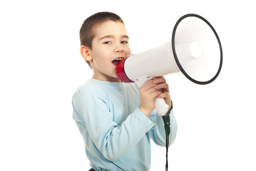
{"label": "light blue sleeve behind the dangling black strap, on the right", "polygon": [[[169,134],[169,146],[176,138],[177,134],[177,122],[173,114],[173,109],[169,114],[170,116],[170,134]],[[156,110],[153,110],[149,115],[149,118],[155,123],[155,126],[148,132],[150,138],[160,146],[166,146],[166,133],[165,133],[165,123],[161,116],[159,116]]]}

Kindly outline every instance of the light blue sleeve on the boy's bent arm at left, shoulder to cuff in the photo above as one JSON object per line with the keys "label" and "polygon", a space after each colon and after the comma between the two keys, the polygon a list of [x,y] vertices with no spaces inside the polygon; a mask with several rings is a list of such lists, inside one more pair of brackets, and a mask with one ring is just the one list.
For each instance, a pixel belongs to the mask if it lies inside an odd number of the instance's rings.
{"label": "light blue sleeve on the boy's bent arm at left, shoulder to cuff", "polygon": [[113,121],[114,115],[109,112],[107,101],[108,96],[103,90],[88,86],[79,89],[73,96],[72,104],[78,115],[75,120],[84,124],[101,154],[109,161],[117,161],[140,141],[154,123],[137,107],[118,126]]}

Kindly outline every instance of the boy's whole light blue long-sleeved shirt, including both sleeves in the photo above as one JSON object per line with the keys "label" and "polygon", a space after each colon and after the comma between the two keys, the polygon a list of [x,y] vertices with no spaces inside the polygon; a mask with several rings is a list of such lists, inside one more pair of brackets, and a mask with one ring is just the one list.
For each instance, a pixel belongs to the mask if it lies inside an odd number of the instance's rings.
{"label": "boy's whole light blue long-sleeved shirt, including both sleeves", "polygon": [[[148,171],[149,137],[165,146],[164,122],[155,110],[147,117],[138,109],[139,89],[135,83],[90,79],[78,88],[72,104],[73,119],[95,171]],[[172,111],[169,145],[177,133]]]}

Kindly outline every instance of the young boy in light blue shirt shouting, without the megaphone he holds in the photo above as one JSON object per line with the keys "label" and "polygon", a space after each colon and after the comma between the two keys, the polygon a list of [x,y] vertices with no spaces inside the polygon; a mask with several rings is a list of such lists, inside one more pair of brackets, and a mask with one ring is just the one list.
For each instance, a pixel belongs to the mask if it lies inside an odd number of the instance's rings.
{"label": "young boy in light blue shirt shouting, without the megaphone he holds", "polygon": [[[164,77],[140,88],[122,83],[115,74],[118,61],[131,53],[123,20],[110,12],[86,19],[80,29],[80,53],[93,76],[73,95],[73,119],[85,142],[91,171],[148,171],[150,140],[165,146],[164,122],[154,110],[154,98],[172,109]],[[170,112],[169,145],[177,132]]]}

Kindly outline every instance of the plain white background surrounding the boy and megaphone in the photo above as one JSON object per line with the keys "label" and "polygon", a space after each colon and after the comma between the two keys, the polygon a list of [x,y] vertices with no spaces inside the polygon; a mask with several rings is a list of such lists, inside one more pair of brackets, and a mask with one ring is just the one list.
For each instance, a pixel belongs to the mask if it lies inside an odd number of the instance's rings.
{"label": "plain white background surrounding the boy and megaphone", "polygon": [[[213,25],[224,57],[217,79],[196,85],[166,76],[178,124],[169,170],[256,171],[252,0],[1,1],[0,170],[89,170],[71,98],[92,76],[79,54],[79,29],[99,11],[124,20],[132,53],[170,39],[187,13]],[[165,147],[152,144],[150,171],[164,170]]]}

